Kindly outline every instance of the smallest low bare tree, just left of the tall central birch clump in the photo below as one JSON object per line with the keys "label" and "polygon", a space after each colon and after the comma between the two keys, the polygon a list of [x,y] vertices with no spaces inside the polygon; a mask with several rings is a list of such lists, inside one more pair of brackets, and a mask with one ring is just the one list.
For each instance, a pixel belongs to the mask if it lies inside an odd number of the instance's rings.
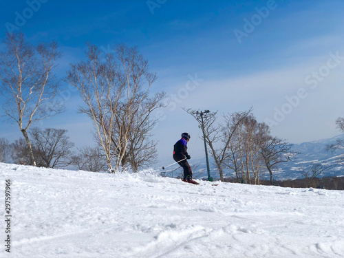
{"label": "smallest low bare tree, just left of the tall central birch clump", "polygon": [[99,147],[83,147],[79,155],[73,155],[71,164],[80,170],[99,172],[107,169],[107,162]]}

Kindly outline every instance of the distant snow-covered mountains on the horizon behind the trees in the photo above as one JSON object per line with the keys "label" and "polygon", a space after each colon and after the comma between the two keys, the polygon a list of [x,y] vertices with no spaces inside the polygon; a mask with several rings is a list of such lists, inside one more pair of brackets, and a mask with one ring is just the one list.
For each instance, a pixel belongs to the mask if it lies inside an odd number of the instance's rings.
{"label": "distant snow-covered mountains on the horizon behind the trees", "polygon": [[[293,144],[293,150],[300,154],[295,156],[291,162],[282,163],[277,169],[275,169],[274,179],[287,180],[303,178],[302,170],[307,171],[312,164],[318,163],[325,164],[328,167],[328,169],[323,171],[320,177],[344,175],[344,166],[338,165],[338,159],[343,158],[344,151],[336,151],[335,153],[326,151],[327,145],[336,142],[338,138],[344,139],[344,134],[330,139]],[[211,177],[218,178],[219,175],[211,157],[209,158],[209,162]],[[189,163],[191,166],[195,167],[193,171],[196,178],[208,178],[205,158],[190,160]],[[157,166],[156,168],[161,169],[161,166]],[[173,171],[174,169],[177,170]],[[182,169],[178,169],[178,165],[171,166],[164,170],[166,175],[173,175],[173,177],[180,175],[181,171]],[[227,177],[235,176],[233,171],[225,171],[224,173]],[[268,171],[263,168],[261,179],[268,180],[269,178],[270,175]]]}

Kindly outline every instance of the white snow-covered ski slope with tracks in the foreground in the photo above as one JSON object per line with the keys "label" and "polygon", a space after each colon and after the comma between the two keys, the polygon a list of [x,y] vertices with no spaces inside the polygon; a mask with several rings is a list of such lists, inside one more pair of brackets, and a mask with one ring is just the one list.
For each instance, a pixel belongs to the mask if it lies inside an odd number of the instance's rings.
{"label": "white snow-covered ski slope with tracks in the foreground", "polygon": [[153,169],[0,171],[12,214],[0,257],[344,257],[344,191],[196,186]]}

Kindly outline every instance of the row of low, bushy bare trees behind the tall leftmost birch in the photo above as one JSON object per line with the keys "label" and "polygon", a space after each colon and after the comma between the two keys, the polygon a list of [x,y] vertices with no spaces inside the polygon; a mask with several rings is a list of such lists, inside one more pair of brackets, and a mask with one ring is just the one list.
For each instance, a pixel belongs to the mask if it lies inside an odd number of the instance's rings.
{"label": "row of low, bushy bare trees behind the tall leftmost birch", "polygon": [[[72,151],[74,143],[69,140],[67,130],[34,127],[28,131],[36,166],[63,168],[72,165],[85,171],[106,171],[107,163],[99,147],[83,147],[79,153]],[[0,162],[30,164],[31,155],[23,138],[10,142],[0,138]]]}

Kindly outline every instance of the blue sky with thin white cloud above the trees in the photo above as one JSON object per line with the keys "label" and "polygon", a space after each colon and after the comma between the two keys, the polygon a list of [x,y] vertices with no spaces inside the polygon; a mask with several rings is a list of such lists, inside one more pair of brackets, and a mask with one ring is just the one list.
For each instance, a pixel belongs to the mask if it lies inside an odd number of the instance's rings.
{"label": "blue sky with thin white cloud above the trees", "polygon": [[[180,107],[222,114],[252,106],[272,134],[294,143],[340,133],[343,1],[29,0],[1,1],[0,10],[2,39],[11,23],[32,43],[58,42],[60,77],[83,59],[85,42],[105,51],[114,43],[137,45],[158,74],[152,92],[170,95],[154,130],[160,160],[170,158],[184,131],[191,133],[191,155],[204,155],[197,122]],[[29,17],[25,24],[16,23],[18,14]],[[238,31],[246,36],[238,40]],[[80,98],[65,88],[67,111],[38,126],[68,129],[78,147],[92,145],[92,122],[77,114]],[[1,118],[0,137],[20,136]]]}

